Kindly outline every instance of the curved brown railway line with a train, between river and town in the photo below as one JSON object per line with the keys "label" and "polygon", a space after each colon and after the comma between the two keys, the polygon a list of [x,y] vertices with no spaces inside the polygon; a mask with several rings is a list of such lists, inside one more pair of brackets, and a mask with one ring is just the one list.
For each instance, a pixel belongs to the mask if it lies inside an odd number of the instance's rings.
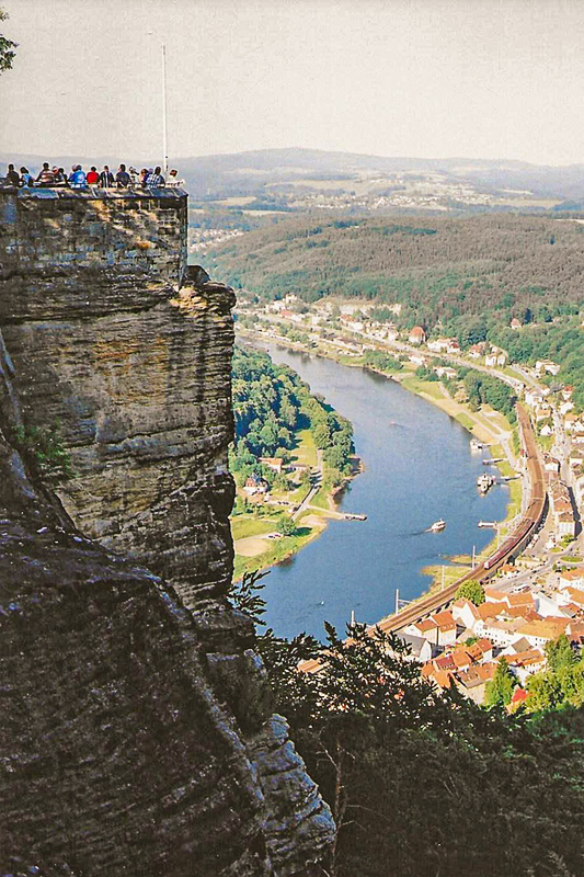
{"label": "curved brown railway line with a train, between river and town", "polygon": [[[529,503],[525,511],[524,516],[508,536],[503,545],[494,551],[490,557],[478,563],[474,569],[461,576],[455,582],[449,584],[443,591],[436,594],[430,594],[426,597],[417,600],[414,605],[408,606],[394,615],[388,615],[378,622],[373,627],[378,627],[385,633],[391,633],[405,627],[408,624],[419,622],[425,618],[438,608],[444,608],[453,602],[456,592],[462,582],[467,581],[485,581],[490,579],[497,569],[503,566],[509,558],[519,554],[527,545],[534,533],[537,531],[543,513],[546,511],[547,491],[546,480],[543,477],[543,467],[539,459],[537,449],[536,436],[531,426],[531,421],[526,410],[517,403],[515,406],[517,412],[517,422],[523,442],[523,453],[527,463],[527,471],[530,485]],[[371,627],[371,629],[373,629]],[[304,661],[299,664],[299,669],[307,673],[312,673],[320,668],[319,661]]]}

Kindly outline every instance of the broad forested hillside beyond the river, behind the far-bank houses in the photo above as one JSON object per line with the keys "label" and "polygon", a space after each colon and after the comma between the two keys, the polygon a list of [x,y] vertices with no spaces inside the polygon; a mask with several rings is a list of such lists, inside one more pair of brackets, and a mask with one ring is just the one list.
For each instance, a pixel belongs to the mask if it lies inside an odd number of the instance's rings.
{"label": "broad forested hillside beyond the river, behind the far-bank houses", "polygon": [[358,297],[401,330],[421,324],[462,350],[488,340],[517,363],[552,360],[584,410],[583,243],[584,225],[561,215],[305,217],[216,251],[213,270],[261,297]]}

